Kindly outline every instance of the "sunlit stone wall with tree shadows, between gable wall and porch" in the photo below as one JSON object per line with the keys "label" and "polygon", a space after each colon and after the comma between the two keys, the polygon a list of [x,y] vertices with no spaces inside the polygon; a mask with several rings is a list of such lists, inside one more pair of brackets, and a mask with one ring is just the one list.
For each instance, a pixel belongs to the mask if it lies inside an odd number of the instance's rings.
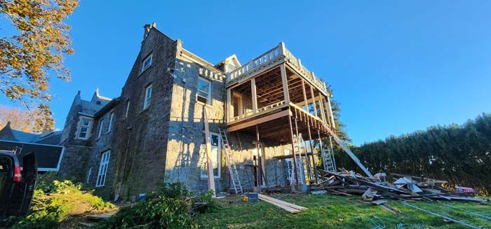
{"label": "sunlit stone wall with tree shadows, between gable wall and porch", "polygon": [[[177,55],[170,113],[166,160],[166,181],[181,181],[190,190],[208,190],[208,181],[201,177],[205,159],[203,143],[203,106],[208,111],[210,132],[224,128],[224,77],[220,71],[187,51]],[[199,77],[211,83],[211,103],[196,101]],[[215,178],[217,191],[224,190],[224,163],[220,178]]]}

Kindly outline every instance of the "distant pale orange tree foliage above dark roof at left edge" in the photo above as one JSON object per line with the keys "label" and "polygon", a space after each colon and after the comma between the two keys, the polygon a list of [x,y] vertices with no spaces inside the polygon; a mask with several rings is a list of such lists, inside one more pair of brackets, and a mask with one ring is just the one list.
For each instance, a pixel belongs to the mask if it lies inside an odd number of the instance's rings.
{"label": "distant pale orange tree foliage above dark roof at left edge", "polygon": [[24,132],[32,132],[34,130],[34,120],[32,120],[29,112],[15,107],[0,105],[0,130],[8,122],[11,122],[11,127],[15,130]]}

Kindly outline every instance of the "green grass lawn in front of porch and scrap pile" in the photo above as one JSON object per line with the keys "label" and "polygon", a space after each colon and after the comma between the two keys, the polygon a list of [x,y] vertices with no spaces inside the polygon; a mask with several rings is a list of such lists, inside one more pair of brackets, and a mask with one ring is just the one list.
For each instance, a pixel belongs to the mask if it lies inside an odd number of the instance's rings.
{"label": "green grass lawn in front of porch and scrap pile", "polygon": [[[389,201],[391,207],[401,211],[393,214],[381,206],[360,201],[360,197],[335,195],[269,195],[309,208],[290,214],[268,202],[243,202],[240,196],[219,199],[223,209],[199,214],[203,228],[465,228],[457,223],[447,223],[417,209],[406,207],[399,201]],[[447,201],[452,207],[439,202],[410,202],[410,204],[482,228],[491,228],[491,221],[466,211],[491,216],[491,204]],[[461,209],[466,209],[462,211]],[[378,227],[377,227],[378,226]]]}

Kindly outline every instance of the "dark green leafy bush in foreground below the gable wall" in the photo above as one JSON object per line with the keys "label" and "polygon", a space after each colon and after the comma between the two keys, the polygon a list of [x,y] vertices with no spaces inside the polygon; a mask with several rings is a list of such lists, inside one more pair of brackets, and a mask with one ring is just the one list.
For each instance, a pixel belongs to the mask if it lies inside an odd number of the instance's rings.
{"label": "dark green leafy bush in foreground below the gable wall", "polygon": [[[211,199],[212,194],[208,192],[200,197],[192,197],[180,182],[164,184],[158,193],[147,195],[144,202],[121,208],[108,221],[95,228],[198,228],[192,217],[194,211],[218,209],[218,205]],[[196,208],[196,205],[200,207]]]}

